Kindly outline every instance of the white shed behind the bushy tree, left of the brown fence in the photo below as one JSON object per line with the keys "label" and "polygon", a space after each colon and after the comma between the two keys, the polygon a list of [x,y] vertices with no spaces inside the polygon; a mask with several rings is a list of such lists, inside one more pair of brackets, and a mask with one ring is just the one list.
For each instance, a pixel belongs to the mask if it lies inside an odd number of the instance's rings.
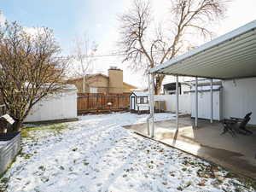
{"label": "white shed behind the bushy tree, left of the brown fence", "polygon": [[44,98],[33,106],[25,122],[77,118],[77,91],[68,84],[61,93]]}

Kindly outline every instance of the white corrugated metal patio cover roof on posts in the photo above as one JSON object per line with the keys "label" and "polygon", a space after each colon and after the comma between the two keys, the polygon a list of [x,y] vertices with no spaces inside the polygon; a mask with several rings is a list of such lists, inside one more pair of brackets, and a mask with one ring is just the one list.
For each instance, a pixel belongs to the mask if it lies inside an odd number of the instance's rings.
{"label": "white corrugated metal patio cover roof on posts", "polygon": [[166,61],[150,73],[213,79],[256,77],[256,20]]}

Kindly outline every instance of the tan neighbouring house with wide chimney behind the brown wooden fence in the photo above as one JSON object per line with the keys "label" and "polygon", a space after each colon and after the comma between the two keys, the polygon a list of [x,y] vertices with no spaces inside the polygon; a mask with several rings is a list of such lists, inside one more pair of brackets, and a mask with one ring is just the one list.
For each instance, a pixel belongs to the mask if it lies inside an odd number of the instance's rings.
{"label": "tan neighbouring house with wide chimney behind the brown wooden fence", "polygon": [[117,67],[108,69],[108,76],[102,73],[90,74],[85,77],[85,91],[83,78],[69,79],[68,84],[75,84],[79,93],[131,93],[137,87],[123,82],[123,70]]}

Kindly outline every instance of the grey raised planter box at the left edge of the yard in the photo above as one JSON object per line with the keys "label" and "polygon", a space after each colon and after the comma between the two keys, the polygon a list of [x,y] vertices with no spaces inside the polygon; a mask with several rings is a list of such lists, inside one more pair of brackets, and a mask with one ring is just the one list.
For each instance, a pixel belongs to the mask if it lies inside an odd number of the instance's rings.
{"label": "grey raised planter box at the left edge of the yard", "polygon": [[20,152],[20,132],[0,134],[0,176]]}

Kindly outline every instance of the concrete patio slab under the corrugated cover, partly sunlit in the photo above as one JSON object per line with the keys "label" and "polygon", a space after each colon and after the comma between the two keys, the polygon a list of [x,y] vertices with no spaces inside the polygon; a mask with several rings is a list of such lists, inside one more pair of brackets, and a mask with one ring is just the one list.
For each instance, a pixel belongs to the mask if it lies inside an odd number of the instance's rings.
{"label": "concrete patio slab under the corrugated cover, partly sunlit", "polygon": [[[200,119],[198,123],[199,127],[193,129],[193,119],[179,118],[179,130],[176,131],[175,119],[155,122],[154,140],[256,179],[255,128],[251,129],[251,136],[238,134],[232,137],[230,133],[221,135],[223,126],[219,122],[211,124],[208,120]],[[147,124],[127,125],[125,128],[148,137]]]}

